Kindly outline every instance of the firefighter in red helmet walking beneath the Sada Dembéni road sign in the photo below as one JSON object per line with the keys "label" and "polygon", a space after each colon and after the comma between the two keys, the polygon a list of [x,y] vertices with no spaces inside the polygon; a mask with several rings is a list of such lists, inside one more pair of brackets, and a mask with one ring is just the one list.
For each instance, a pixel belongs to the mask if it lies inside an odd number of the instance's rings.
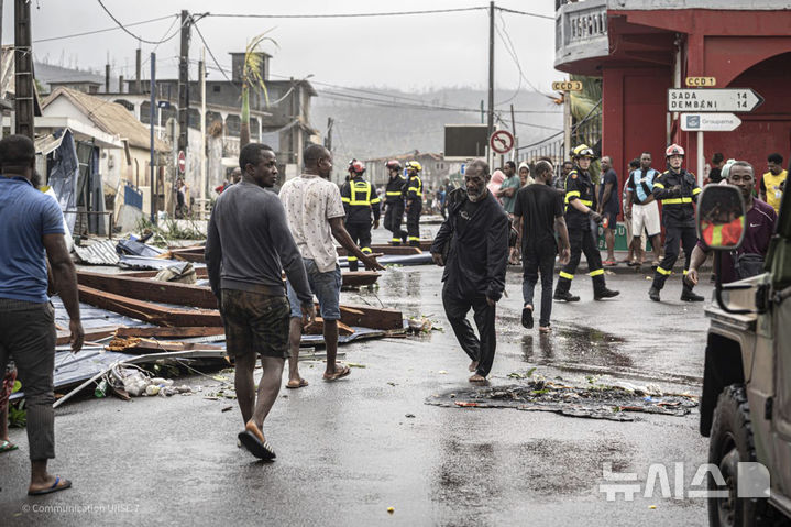
{"label": "firefighter in red helmet walking beneath the Sada Demb\u00e9ni road sign", "polygon": [[[701,188],[697,178],[686,172],[681,165],[684,163],[684,149],[671,144],[664,152],[668,169],[653,183],[653,197],[662,204],[662,226],[664,227],[664,259],[653,272],[653,283],[648,296],[659,301],[659,292],[673,271],[679,259],[679,244],[684,249],[684,275],[690,268],[692,250],[697,243],[695,232],[695,207]],[[681,299],[684,301],[703,301],[704,298],[692,290],[692,285],[682,281]]]}

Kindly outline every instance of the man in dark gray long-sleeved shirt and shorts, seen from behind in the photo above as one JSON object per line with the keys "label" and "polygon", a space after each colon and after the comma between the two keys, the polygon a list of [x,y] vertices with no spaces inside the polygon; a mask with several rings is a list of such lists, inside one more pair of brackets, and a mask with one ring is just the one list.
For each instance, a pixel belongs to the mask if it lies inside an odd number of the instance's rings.
{"label": "man in dark gray long-sleeved shirt and shorts, seen from behind", "polygon": [[[206,266],[226,326],[228,354],[235,362],[234,383],[244,420],[239,440],[256,458],[271,460],[275,452],[262,429],[288,356],[290,308],[281,270],[296,292],[304,319],[316,314],[283,205],[266,190],[277,178],[274,152],[260,143],[248,144],[239,154],[239,166],[242,180],[220,195],[211,212]],[[257,400],[256,355],[264,369]]]}

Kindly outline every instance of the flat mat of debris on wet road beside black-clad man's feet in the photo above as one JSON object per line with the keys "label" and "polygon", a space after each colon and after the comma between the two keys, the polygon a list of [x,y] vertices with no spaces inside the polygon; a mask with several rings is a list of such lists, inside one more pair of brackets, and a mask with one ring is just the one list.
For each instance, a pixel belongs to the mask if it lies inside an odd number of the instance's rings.
{"label": "flat mat of debris on wet road beside black-clad man's feet", "polygon": [[508,386],[471,387],[435,394],[426,404],[462,408],[515,408],[554,411],[571,417],[633,421],[631,413],[685,416],[697,407],[690,395],[649,394],[622,386],[567,386],[543,378]]}

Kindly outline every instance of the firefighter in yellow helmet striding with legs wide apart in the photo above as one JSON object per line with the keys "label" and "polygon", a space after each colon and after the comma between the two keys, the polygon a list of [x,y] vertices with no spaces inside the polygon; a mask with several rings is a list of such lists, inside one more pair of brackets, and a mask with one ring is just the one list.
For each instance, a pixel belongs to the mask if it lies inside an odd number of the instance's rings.
{"label": "firefighter in yellow helmet striding with legs wide apart", "polygon": [[602,216],[596,212],[595,186],[591,180],[589,168],[594,158],[593,150],[585,144],[572,151],[574,168],[565,178],[565,224],[569,228],[569,242],[571,244],[571,259],[560,272],[558,286],[554,289],[556,300],[579,301],[580,297],[572,295],[571,281],[574,278],[580,256],[585,253],[587,271],[593,278],[593,298],[603,300],[618,296],[619,292],[607,289],[602,267],[602,255],[596,246],[596,240],[591,229],[591,220],[598,223]]}

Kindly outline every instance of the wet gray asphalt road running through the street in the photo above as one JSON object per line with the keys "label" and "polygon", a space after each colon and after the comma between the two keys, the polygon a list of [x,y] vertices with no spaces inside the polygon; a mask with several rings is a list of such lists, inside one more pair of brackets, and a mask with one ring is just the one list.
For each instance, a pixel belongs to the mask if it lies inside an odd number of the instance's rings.
{"label": "wet gray asphalt road running through the street", "polygon": [[[645,275],[609,275],[622,296],[594,303],[590,278],[578,275],[572,290],[582,301],[556,304],[554,332],[539,338],[518,323],[520,272],[509,272],[509,298],[498,307],[493,385],[518,383],[507,375],[535,366],[567,383],[584,385],[593,375],[601,383],[700,392],[707,322],[702,305],[679,301],[678,278],[666,287],[666,301],[655,304],[647,298]],[[392,268],[375,295],[344,292],[342,300],[377,305],[377,296],[405,316],[427,315],[448,327],[439,277],[440,270],[430,266]],[[711,287],[701,293],[710,296]],[[468,386],[469,361],[450,328],[341,351],[365,367],[330,384],[320,378],[321,363],[303,363],[310,386],[282,392],[265,425],[278,454],[274,463],[256,462],[237,448],[242,422],[235,402],[206,399],[220,383],[200,376],[185,382],[204,386],[202,394],[128,403],[83,398],[58,408],[58,458],[51,468],[72,479],[74,488],[47,497],[25,496],[26,439],[12,430],[20,450],[0,455],[0,524],[706,523],[701,499],[642,496],[651,463],[668,466],[675,492],[674,463],[683,463],[689,485],[705,462],[696,413],[615,422],[426,405],[431,394]],[[605,462],[638,474],[634,501],[605,499],[600,492]]]}

